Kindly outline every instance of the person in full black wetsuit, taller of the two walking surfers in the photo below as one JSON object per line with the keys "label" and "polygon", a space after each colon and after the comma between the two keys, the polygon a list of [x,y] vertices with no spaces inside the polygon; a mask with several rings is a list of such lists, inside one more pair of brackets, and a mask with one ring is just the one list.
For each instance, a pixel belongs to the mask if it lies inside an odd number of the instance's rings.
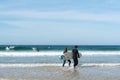
{"label": "person in full black wetsuit, taller of the two walking surfers", "polygon": [[72,53],[73,53],[73,62],[74,62],[74,69],[75,67],[78,65],[78,58],[80,58],[80,55],[79,55],[79,52],[78,52],[78,46],[75,45],[73,50],[72,50]]}

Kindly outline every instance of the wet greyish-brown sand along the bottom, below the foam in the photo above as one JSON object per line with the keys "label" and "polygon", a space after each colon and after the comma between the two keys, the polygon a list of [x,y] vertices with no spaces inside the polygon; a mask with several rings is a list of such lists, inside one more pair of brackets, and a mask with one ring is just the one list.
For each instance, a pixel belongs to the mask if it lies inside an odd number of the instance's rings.
{"label": "wet greyish-brown sand along the bottom, below the foam", "polygon": [[115,67],[0,67],[0,80],[120,80]]}

